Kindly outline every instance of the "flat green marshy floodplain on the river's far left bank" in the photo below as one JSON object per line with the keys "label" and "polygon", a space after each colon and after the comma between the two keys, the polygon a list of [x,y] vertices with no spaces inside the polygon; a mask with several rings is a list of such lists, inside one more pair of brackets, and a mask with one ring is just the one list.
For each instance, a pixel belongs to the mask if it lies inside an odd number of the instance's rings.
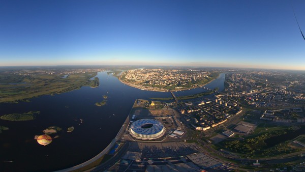
{"label": "flat green marshy floodplain on the river's far left bank", "polygon": [[22,74],[0,73],[0,103],[28,101],[28,99],[65,93],[80,89],[82,86],[98,87],[99,78],[93,76],[97,72],[79,72],[63,77],[63,74],[45,74],[43,72],[26,71]]}

